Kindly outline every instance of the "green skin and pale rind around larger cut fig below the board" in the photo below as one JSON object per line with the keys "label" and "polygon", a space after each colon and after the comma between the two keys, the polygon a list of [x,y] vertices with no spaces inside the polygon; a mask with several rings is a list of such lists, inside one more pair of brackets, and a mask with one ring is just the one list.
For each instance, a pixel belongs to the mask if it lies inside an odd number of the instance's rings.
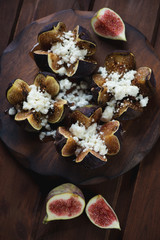
{"label": "green skin and pale rind around larger cut fig below the board", "polygon": [[[63,218],[63,216],[58,217],[58,218],[54,218],[53,216],[49,216],[51,210],[49,210],[48,202],[52,199],[53,199],[53,201],[61,200],[61,199],[65,200],[66,194],[68,194],[70,197],[75,198],[76,201],[79,201],[81,203],[81,207],[79,209],[80,212],[78,214],[76,213],[76,215],[72,215],[71,217],[65,217],[65,218]],[[63,196],[64,196],[64,198],[63,198]],[[46,203],[47,214],[46,214],[46,216],[43,220],[44,224],[46,224],[48,221],[52,221],[52,220],[71,219],[71,218],[78,217],[79,215],[82,214],[82,212],[84,210],[84,207],[85,207],[85,198],[84,198],[84,195],[83,195],[82,191],[72,183],[65,183],[65,184],[62,184],[62,185],[52,189],[47,196],[46,202],[47,202]],[[52,202],[50,202],[50,204],[51,203]]]}

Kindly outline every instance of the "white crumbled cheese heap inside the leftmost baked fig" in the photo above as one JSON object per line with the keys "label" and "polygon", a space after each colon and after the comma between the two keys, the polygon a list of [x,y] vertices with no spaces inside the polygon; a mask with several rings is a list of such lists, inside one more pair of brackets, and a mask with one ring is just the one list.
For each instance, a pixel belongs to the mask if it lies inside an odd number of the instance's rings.
{"label": "white crumbled cheese heap inside the leftmost baked fig", "polygon": [[34,109],[36,112],[47,114],[49,109],[53,109],[54,100],[49,93],[41,91],[40,87],[35,85],[30,85],[30,89],[27,100],[23,102],[24,110]]}

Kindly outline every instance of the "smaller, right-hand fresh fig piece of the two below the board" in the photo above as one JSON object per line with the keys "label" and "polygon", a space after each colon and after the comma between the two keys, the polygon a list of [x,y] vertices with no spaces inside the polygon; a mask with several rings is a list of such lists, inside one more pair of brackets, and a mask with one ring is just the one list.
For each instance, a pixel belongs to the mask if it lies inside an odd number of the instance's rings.
{"label": "smaller, right-hand fresh fig piece of the two below the board", "polygon": [[89,200],[86,206],[86,214],[90,221],[99,228],[120,229],[115,212],[101,195],[97,195]]}

